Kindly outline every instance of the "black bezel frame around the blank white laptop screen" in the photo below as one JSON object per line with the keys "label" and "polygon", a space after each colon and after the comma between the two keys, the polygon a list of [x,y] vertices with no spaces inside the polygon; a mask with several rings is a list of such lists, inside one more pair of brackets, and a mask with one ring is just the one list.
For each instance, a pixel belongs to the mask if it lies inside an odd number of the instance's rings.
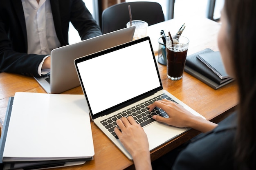
{"label": "black bezel frame around the blank white laptop screen", "polygon": [[[143,93],[141,95],[133,97],[132,99],[129,99],[129,100],[125,101],[125,102],[117,104],[116,106],[112,106],[111,108],[108,108],[108,109],[103,110],[103,111],[101,111],[99,113],[93,114],[92,113],[92,109],[90,107],[90,102],[88,101],[88,96],[87,96],[85,88],[84,88],[84,84],[83,84],[84,82],[81,79],[81,75],[80,75],[79,68],[78,68],[77,64],[79,64],[80,62],[83,62],[85,60],[90,60],[90,59],[92,59],[94,57],[99,57],[99,56],[104,55],[106,53],[111,53],[112,51],[116,51],[116,50],[119,50],[119,49],[122,49],[122,48],[125,48],[125,47],[128,47],[128,46],[132,46],[134,44],[137,44],[137,43],[140,43],[140,42],[144,42],[144,41],[148,41],[149,44],[150,44],[150,49],[151,49],[152,57],[153,57],[153,60],[154,60],[154,63],[155,63],[155,68],[157,69],[157,76],[158,76],[158,79],[159,79],[160,86],[155,88],[155,89],[153,89],[153,90],[151,90],[151,91],[148,91],[146,93]],[[103,115],[108,115],[110,113],[113,113],[113,112],[115,112],[115,111],[117,111],[117,110],[119,110],[121,108],[124,108],[125,106],[128,106],[128,105],[130,105],[132,103],[138,102],[141,99],[149,97],[150,95],[153,95],[157,91],[163,89],[162,81],[161,81],[159,70],[158,70],[158,67],[157,67],[157,62],[156,62],[156,59],[155,59],[155,54],[154,54],[154,51],[153,51],[153,48],[152,48],[152,44],[150,42],[150,38],[149,37],[141,38],[139,40],[134,40],[134,41],[131,41],[131,42],[128,42],[128,43],[125,43],[125,44],[121,44],[119,46],[112,47],[110,49],[106,49],[106,50],[103,50],[103,51],[100,51],[100,52],[97,52],[97,53],[93,53],[93,54],[90,54],[90,55],[87,55],[87,56],[84,56],[84,57],[80,57],[80,58],[74,60],[74,64],[75,64],[75,67],[76,67],[76,71],[77,71],[77,74],[78,74],[78,77],[79,77],[79,80],[80,80],[80,84],[81,84],[83,93],[84,93],[86,101],[88,103],[88,108],[89,108],[89,112],[90,112],[90,115],[91,115],[92,119],[96,119],[97,117],[101,117]],[[88,82],[85,82],[85,83],[88,83]]]}

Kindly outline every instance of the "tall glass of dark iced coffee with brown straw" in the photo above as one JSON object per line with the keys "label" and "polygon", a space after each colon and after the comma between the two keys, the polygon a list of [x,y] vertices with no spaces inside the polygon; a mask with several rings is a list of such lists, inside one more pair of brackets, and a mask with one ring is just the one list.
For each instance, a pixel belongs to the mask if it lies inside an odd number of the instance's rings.
{"label": "tall glass of dark iced coffee with brown straw", "polygon": [[179,80],[183,76],[189,39],[181,35],[173,35],[172,40],[167,37],[166,62],[167,76],[172,80]]}

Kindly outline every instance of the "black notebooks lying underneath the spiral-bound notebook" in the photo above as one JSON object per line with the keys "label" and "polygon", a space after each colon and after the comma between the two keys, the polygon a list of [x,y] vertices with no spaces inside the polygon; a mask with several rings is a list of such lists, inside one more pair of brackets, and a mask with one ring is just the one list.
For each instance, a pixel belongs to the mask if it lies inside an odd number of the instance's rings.
{"label": "black notebooks lying underneath the spiral-bound notebook", "polygon": [[[198,55],[212,52],[214,51],[211,49],[204,49],[192,55],[188,55],[186,57],[186,65],[184,71],[200,79],[202,82],[211,86],[212,88],[218,89],[232,82],[234,79],[231,77],[221,79],[216,73],[214,73],[208,66],[206,66],[197,58]],[[222,62],[221,58],[220,62]]]}

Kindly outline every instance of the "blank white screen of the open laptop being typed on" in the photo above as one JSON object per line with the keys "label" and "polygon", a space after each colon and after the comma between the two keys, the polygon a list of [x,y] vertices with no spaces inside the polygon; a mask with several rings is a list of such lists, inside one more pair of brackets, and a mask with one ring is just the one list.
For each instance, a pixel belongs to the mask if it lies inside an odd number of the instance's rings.
{"label": "blank white screen of the open laptop being typed on", "polygon": [[92,114],[159,88],[149,40],[79,62]]}

